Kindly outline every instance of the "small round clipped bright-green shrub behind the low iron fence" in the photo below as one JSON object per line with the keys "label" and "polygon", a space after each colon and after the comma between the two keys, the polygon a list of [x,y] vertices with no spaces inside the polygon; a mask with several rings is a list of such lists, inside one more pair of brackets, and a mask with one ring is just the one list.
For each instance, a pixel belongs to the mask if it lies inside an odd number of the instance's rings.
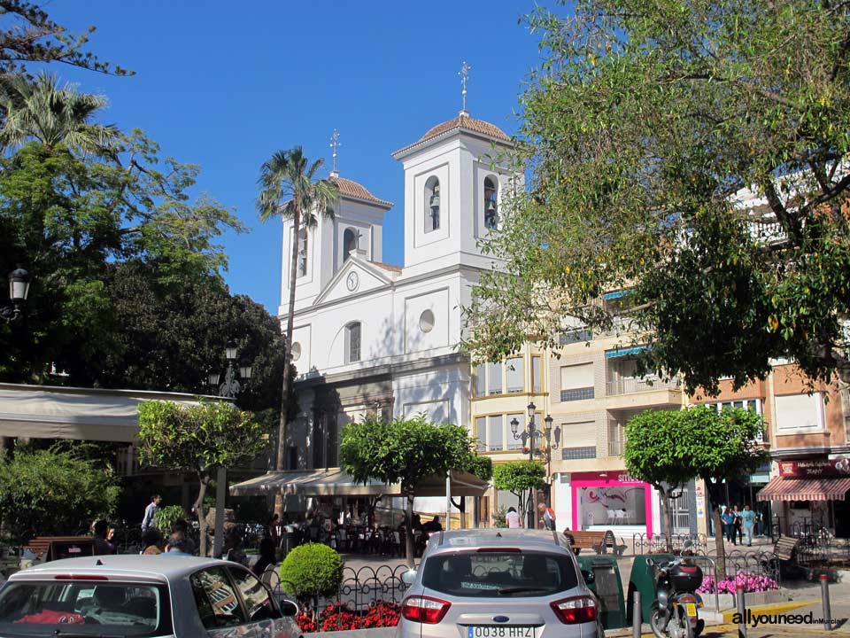
{"label": "small round clipped bright-green shrub behind the low iron fence", "polygon": [[343,567],[336,549],[321,543],[301,545],[290,551],[281,565],[281,586],[299,601],[333,595],[343,582]]}

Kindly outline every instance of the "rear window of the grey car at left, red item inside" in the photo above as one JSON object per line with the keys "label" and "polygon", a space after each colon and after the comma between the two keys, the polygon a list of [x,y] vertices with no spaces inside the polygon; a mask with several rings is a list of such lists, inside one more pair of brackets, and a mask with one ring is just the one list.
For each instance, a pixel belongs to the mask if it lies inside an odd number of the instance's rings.
{"label": "rear window of the grey car at left, red item inside", "polygon": [[19,580],[0,589],[0,635],[174,634],[168,589],[159,583]]}

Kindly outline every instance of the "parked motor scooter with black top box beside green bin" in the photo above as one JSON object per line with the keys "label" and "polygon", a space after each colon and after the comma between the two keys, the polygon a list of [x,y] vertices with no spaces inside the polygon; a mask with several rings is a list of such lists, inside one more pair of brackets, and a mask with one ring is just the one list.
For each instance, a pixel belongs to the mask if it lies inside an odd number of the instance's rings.
{"label": "parked motor scooter with black top box beside green bin", "polygon": [[650,626],[657,638],[695,638],[705,628],[699,618],[703,606],[697,589],[702,570],[687,556],[655,565],[656,599]]}

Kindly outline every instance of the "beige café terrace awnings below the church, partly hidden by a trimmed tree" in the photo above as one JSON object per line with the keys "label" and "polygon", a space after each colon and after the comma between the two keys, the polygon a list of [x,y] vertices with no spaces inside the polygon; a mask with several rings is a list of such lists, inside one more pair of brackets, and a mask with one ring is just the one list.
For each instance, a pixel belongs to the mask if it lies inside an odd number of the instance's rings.
{"label": "beige caf\u00e9 terrace awnings below the church, partly hidden by a trimmed tree", "polygon": [[[489,484],[473,474],[452,470],[452,496],[478,496],[487,491]],[[400,496],[398,484],[386,485],[369,481],[366,485],[356,482],[352,475],[331,468],[312,471],[270,471],[230,486],[230,494],[302,494],[305,496]],[[434,477],[426,481],[417,496],[444,496],[445,478]]]}

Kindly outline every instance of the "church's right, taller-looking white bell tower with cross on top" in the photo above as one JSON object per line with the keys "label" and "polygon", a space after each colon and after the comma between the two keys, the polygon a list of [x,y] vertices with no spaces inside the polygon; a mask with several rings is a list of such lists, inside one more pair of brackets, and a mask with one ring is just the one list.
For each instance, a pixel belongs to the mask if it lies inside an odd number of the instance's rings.
{"label": "church's right, taller-looking white bell tower with cross on top", "polygon": [[498,228],[499,202],[514,187],[506,162],[498,165],[512,144],[501,129],[470,116],[471,70],[465,61],[460,66],[458,116],[392,154],[405,168],[406,273],[457,263],[490,267],[477,244]]}

